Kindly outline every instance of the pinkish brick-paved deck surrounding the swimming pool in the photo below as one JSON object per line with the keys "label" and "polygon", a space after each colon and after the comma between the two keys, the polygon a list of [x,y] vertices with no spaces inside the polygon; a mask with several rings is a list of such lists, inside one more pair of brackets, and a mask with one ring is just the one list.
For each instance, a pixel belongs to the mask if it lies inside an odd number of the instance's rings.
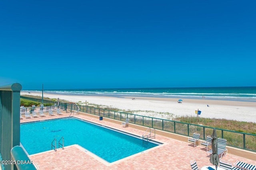
{"label": "pinkish brick-paved deck surrounding the swimming pool", "polygon": [[[65,111],[63,111],[63,115],[46,115],[46,117],[28,119],[23,118],[20,122],[56,119],[60,117],[68,117],[69,115],[70,113],[65,113]],[[99,119],[81,114],[74,115],[74,117],[112,127],[134,135],[142,136],[144,133],[144,131],[134,129],[132,127],[124,128],[121,126],[121,123],[119,125],[104,121],[104,119],[100,121]],[[75,131],[76,127],[74,127],[73,130]],[[178,141],[161,135],[156,135],[156,139],[153,140],[164,143],[164,145],[160,145],[144,153],[139,153],[111,164],[104,163],[100,158],[92,156],[92,154],[81,149],[78,145],[64,147],[64,150],[57,149],[56,152],[54,150],[50,150],[30,155],[29,158],[33,161],[33,164],[36,164],[36,167],[38,167],[39,170],[190,170],[190,161],[193,159],[196,160],[199,168],[211,165],[209,161],[210,157],[207,157],[206,150],[200,149],[198,146],[194,148],[191,145],[188,145],[187,142]],[[35,147],[38,146],[35,145]],[[256,165],[255,160],[229,153],[222,157],[222,160],[232,162],[232,164],[237,160],[240,160]]]}

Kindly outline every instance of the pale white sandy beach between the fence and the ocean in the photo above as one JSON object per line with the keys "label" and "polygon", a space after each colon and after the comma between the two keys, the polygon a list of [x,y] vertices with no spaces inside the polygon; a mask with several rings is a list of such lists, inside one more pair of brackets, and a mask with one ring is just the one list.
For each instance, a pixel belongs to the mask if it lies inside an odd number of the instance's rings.
{"label": "pale white sandy beach between the fence and the ocean", "polygon": [[[21,95],[42,96],[39,92],[20,92]],[[60,98],[70,102],[81,102],[114,107],[127,113],[146,115],[162,119],[171,119],[175,116],[196,116],[195,110],[202,111],[199,117],[229,119],[247,122],[256,122],[256,103],[237,102],[207,99],[183,99],[178,103],[177,98],[147,98],[132,97],[116,98],[105,96],[73,96],[44,93],[47,98]],[[207,106],[209,105],[209,107]],[[171,113],[171,114],[170,114]]]}

